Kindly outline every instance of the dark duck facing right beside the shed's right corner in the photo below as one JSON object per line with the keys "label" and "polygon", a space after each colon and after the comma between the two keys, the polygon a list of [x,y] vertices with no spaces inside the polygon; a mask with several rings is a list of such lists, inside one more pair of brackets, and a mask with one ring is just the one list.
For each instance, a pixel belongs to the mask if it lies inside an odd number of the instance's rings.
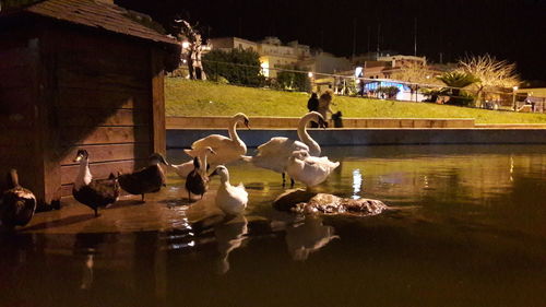
{"label": "dark duck facing right beside the shed's right corner", "polygon": [[119,185],[123,190],[131,194],[142,196],[144,202],[144,194],[158,192],[162,187],[165,187],[165,173],[159,165],[167,162],[163,155],[154,153],[150,156],[150,165],[132,174],[121,174],[118,176]]}

